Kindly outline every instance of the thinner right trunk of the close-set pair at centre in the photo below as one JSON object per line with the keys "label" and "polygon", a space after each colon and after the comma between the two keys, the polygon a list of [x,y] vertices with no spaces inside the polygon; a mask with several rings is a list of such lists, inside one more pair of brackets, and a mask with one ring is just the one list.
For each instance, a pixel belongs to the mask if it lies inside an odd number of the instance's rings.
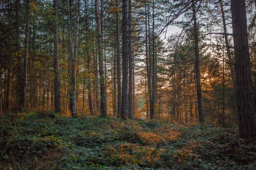
{"label": "thinner right trunk of the close-set pair at centre", "polygon": [[129,15],[128,15],[128,60],[129,60],[129,89],[128,89],[128,117],[132,119],[132,44],[131,44],[131,0],[129,0]]}

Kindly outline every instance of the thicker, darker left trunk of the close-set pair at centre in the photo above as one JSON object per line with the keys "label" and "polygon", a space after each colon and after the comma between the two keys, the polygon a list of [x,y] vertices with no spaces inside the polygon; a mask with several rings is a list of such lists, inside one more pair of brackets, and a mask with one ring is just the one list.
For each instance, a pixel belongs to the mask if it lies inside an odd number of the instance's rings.
{"label": "thicker, darker left trunk of the close-set pair at centre", "polygon": [[127,0],[122,0],[122,105],[121,117],[128,117],[128,38],[127,38]]}

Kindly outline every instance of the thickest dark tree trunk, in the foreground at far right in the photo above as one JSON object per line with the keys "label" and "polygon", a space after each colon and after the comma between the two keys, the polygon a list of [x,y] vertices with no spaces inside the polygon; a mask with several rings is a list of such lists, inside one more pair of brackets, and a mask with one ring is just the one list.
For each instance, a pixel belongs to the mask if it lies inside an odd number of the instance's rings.
{"label": "thickest dark tree trunk, in the foreground at far right", "polygon": [[231,14],[236,59],[239,135],[241,138],[253,139],[256,137],[256,125],[245,0],[231,0]]}

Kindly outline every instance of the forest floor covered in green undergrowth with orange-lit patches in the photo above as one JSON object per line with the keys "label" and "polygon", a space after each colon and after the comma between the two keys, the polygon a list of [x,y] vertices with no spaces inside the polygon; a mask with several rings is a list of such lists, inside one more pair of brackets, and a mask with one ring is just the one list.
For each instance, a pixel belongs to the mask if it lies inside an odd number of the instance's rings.
{"label": "forest floor covered in green undergrowth with orange-lit patches", "polygon": [[2,121],[3,170],[256,169],[256,141],[239,139],[236,128],[54,113]]}

